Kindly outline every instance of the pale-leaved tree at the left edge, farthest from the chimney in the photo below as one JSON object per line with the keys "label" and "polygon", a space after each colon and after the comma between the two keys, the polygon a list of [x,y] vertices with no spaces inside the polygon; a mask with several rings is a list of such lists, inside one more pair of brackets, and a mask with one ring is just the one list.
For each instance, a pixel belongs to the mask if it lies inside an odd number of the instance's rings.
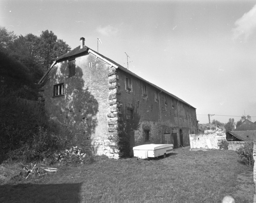
{"label": "pale-leaved tree at the left edge, farthest from the chimney", "polygon": [[13,31],[8,31],[5,27],[0,26],[0,50],[9,51],[10,45],[16,38]]}

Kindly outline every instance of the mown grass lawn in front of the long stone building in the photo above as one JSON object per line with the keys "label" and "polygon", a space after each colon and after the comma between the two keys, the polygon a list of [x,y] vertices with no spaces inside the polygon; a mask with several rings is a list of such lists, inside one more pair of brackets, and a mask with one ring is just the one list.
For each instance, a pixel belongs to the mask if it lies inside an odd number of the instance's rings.
{"label": "mown grass lawn in front of the long stone building", "polygon": [[[225,195],[239,203],[253,201],[253,191],[249,197],[235,195],[241,190],[241,177],[247,176],[252,186],[253,178],[231,150],[185,147],[165,159],[96,158],[90,165],[57,168],[58,172],[37,180],[21,176],[2,180],[0,202],[221,203]],[[8,174],[7,169],[2,165],[0,174]]]}

